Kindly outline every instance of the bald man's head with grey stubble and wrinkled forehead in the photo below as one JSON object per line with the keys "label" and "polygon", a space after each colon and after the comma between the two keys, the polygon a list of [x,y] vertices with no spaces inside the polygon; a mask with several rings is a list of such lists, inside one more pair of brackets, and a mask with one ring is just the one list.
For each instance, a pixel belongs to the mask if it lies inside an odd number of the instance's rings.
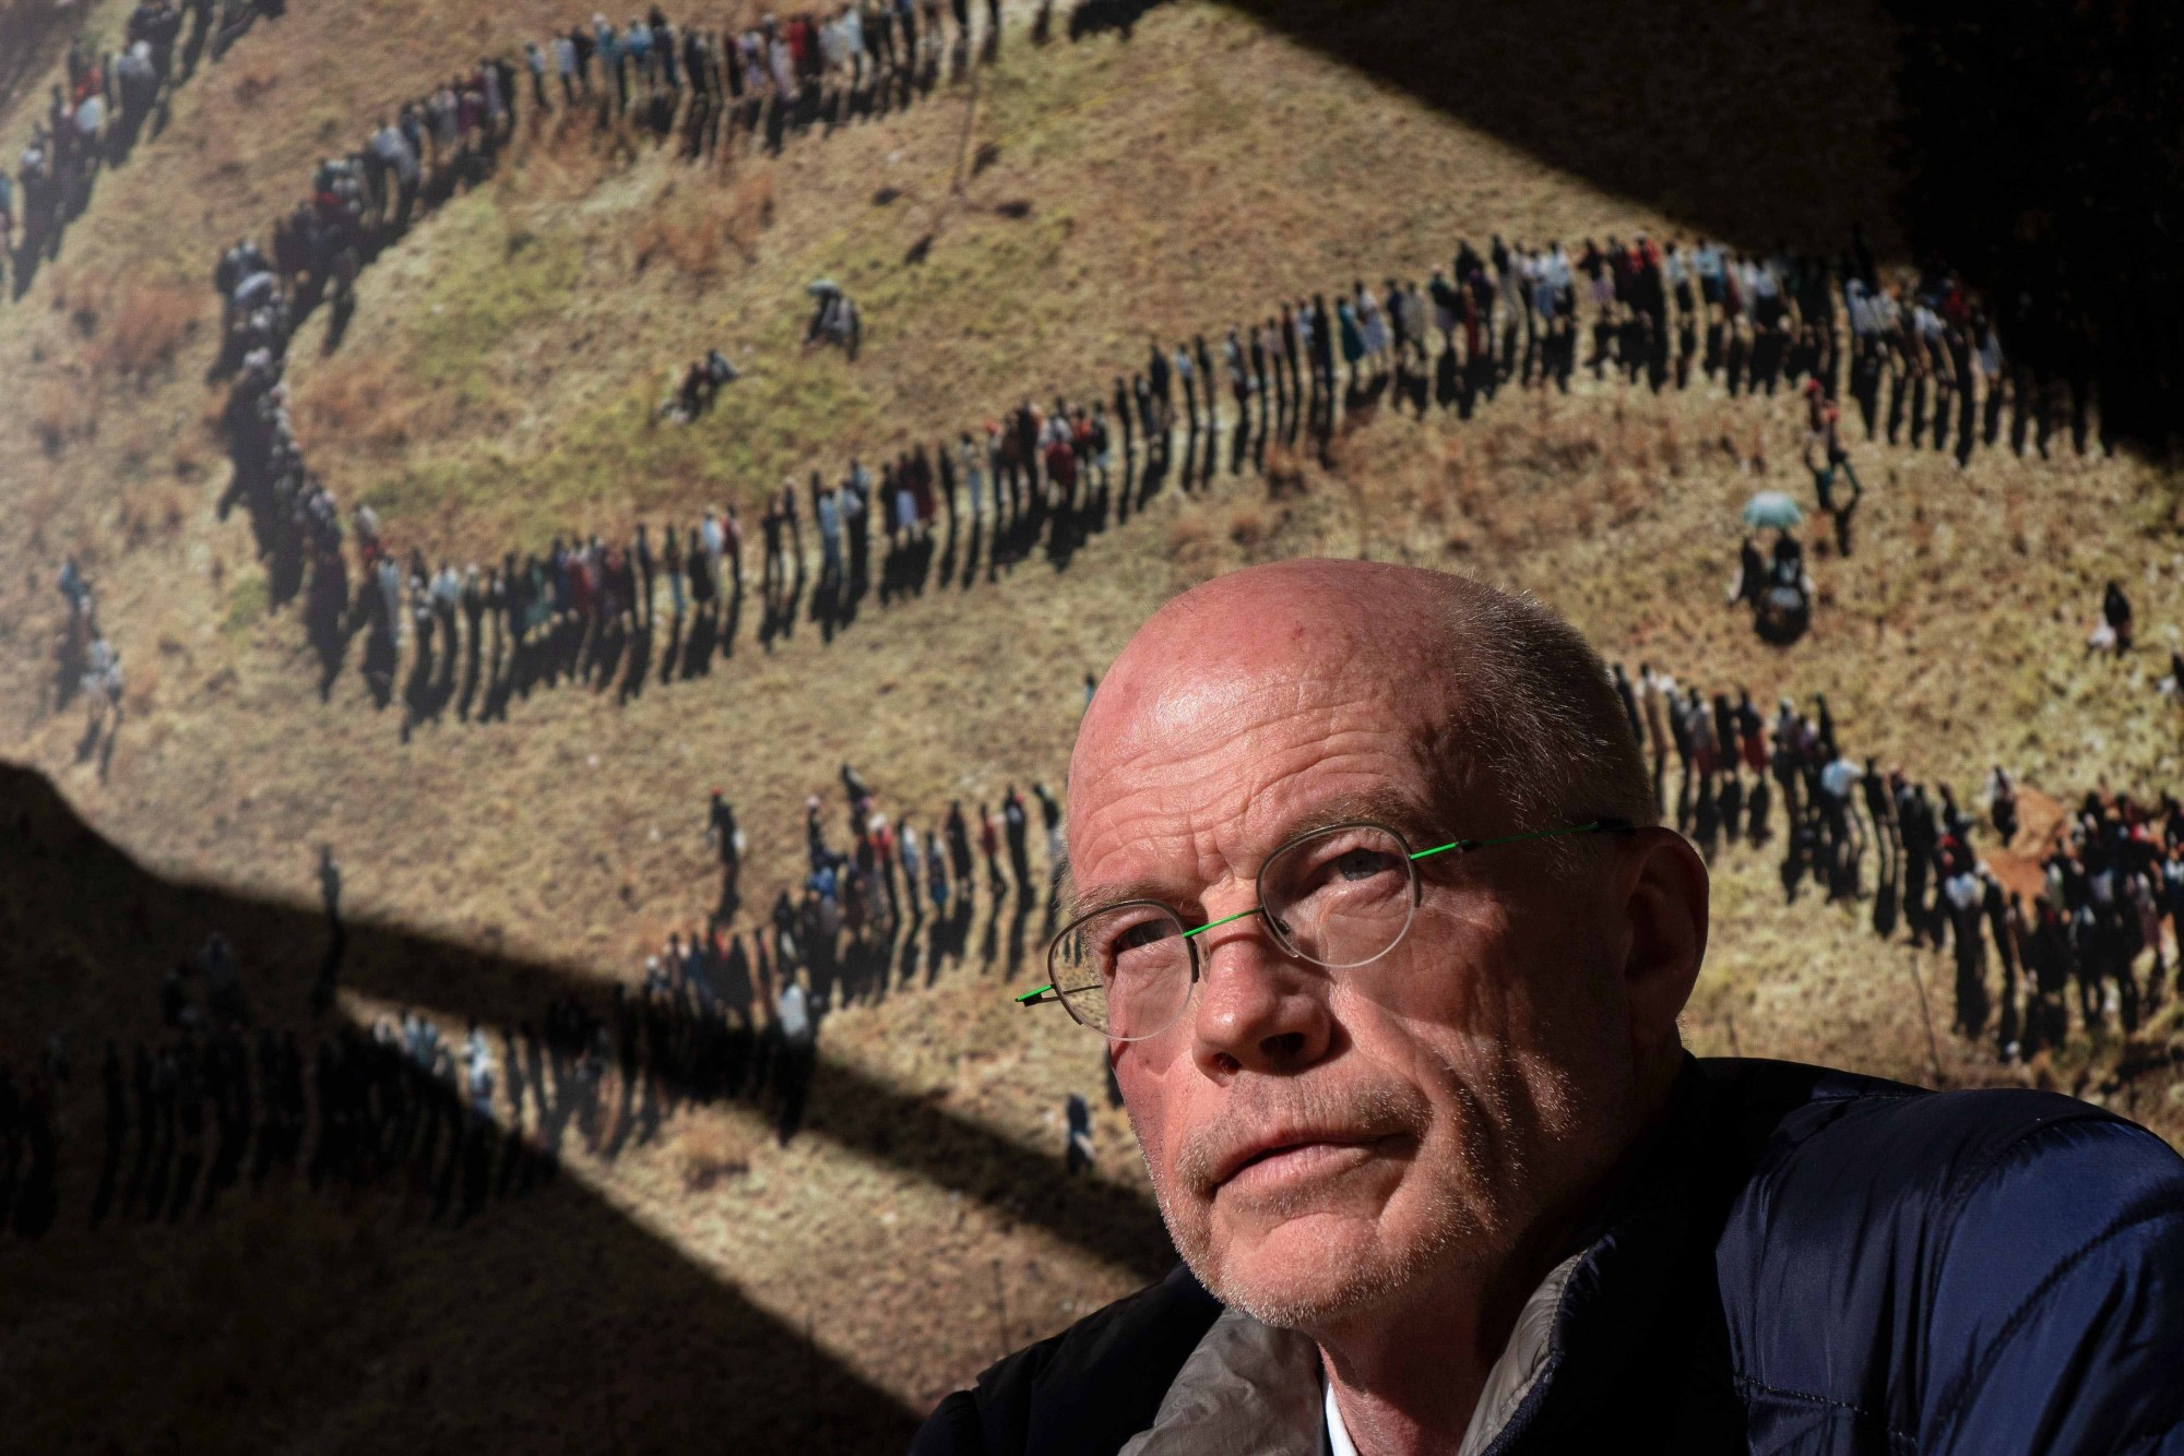
{"label": "bald man's head with grey stubble and wrinkled forehead", "polygon": [[1601,816],[1640,827],[1420,860],[1406,936],[1363,967],[1284,956],[1258,917],[1210,930],[1182,1019],[1109,1043],[1216,1297],[1324,1332],[1544,1273],[1673,1081],[1706,871],[1651,827],[1601,659],[1538,602],[1291,561],[1131,640],[1070,760],[1079,908],[1249,910],[1265,858],[1332,819],[1415,851]]}

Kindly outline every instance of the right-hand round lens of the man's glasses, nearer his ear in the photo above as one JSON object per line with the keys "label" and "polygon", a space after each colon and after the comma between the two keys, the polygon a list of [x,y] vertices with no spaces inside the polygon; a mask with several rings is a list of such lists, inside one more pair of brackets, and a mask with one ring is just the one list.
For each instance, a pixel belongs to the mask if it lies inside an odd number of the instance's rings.
{"label": "right-hand round lens of the man's glasses, nearer his ear", "polygon": [[1411,928],[1417,871],[1393,830],[1337,825],[1267,860],[1258,895],[1293,954],[1328,967],[1365,965]]}

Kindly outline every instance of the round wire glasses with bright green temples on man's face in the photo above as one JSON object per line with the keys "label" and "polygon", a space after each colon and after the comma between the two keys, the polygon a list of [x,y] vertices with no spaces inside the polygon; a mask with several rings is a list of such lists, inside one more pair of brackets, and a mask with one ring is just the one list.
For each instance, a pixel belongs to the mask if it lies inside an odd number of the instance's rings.
{"label": "round wire glasses with bright green temples on man's face", "polygon": [[1417,912],[1417,862],[1496,845],[1566,834],[1616,834],[1627,819],[1594,819],[1566,830],[1503,838],[1455,838],[1413,851],[1402,834],[1352,821],[1310,830],[1267,856],[1258,871],[1258,904],[1186,928],[1158,899],[1129,899],[1070,921],[1046,947],[1048,982],[1018,1004],[1051,1000],[1112,1041],[1158,1037],[1190,1004],[1199,982],[1197,936],[1251,915],[1267,919],[1275,943],[1299,960],[1348,969],[1396,950]]}

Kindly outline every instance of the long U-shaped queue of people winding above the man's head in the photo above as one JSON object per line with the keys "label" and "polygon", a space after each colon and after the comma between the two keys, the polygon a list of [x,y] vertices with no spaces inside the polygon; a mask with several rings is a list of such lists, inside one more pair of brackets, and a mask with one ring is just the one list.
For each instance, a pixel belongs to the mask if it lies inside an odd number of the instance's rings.
{"label": "long U-shaped queue of people winding above the man's head", "polygon": [[[144,33],[162,68],[175,33],[164,4],[144,0],[131,17],[131,35]],[[247,504],[273,605],[304,598],[321,696],[358,637],[373,701],[400,696],[404,736],[450,707],[465,720],[500,718],[542,683],[612,685],[627,701],[653,677],[708,675],[740,629],[743,544],[727,504],[666,524],[657,544],[636,526],[625,537],[570,530],[546,550],[505,552],[500,563],[435,561],[415,541],[397,550],[369,506],[343,513],[306,463],[284,386],[297,319],[332,299],[339,334],[358,268],[419,205],[439,205],[489,170],[524,105],[592,107],[601,124],[627,116],[684,124],[692,155],[734,138],[738,124],[778,140],[845,116],[854,98],[878,94],[885,105],[895,81],[909,96],[943,52],[965,57],[970,4],[952,0],[950,9],[943,17],[937,0],[863,0],[734,35],[677,26],[660,9],[620,28],[594,15],[518,52],[480,57],[391,109],[352,153],[319,164],[269,249],[240,240],[221,255],[216,373],[234,375],[225,404],[234,474],[221,504],[223,513]],[[1000,11],[989,4],[987,48],[998,35]],[[815,336],[839,334],[854,347],[850,308],[839,288],[815,293]],[[2029,308],[2020,303],[2018,314],[2029,319]],[[2027,319],[1992,317],[1939,264],[1883,279],[1859,236],[1835,260],[1789,249],[1756,258],[1704,238],[1690,247],[1645,236],[1586,240],[1575,253],[1559,240],[1527,247],[1496,236],[1485,251],[1459,242],[1424,284],[1354,279],[1332,303],[1328,295],[1284,299],[1265,319],[1225,330],[1214,347],[1203,334],[1153,343],[1144,367],[1116,375],[1112,391],[1057,395],[1051,408],[1026,397],[954,441],[906,445],[878,476],[850,461],[834,482],[812,469],[806,489],[784,485],[762,520],[758,640],[771,646],[799,616],[832,635],[854,620],[874,581],[887,602],[924,592],[935,574],[970,585],[983,565],[994,578],[1042,548],[1068,561],[1171,474],[1184,489],[1210,480],[1223,434],[1236,474],[1245,461],[1262,465],[1271,439],[1295,445],[1310,430],[1326,441],[1339,417],[1374,404],[1470,417],[1507,386],[1566,391],[1579,369],[1653,391],[1688,389],[1697,375],[1732,397],[1804,382],[1815,491],[1848,550],[1859,487],[1837,428],[1845,386],[1870,441],[1885,434],[1920,447],[1931,439],[1937,450],[1955,441],[1961,461],[1974,441],[1998,443],[2007,421],[2011,447],[2044,454],[2068,419],[2075,445],[2088,447],[2088,378],[2035,378],[2003,351],[2014,327],[2031,327]],[[710,351],[666,410],[695,419],[734,378],[736,367]],[[1837,482],[1848,482],[1848,496]],[[817,572],[799,517],[815,526]],[[887,541],[878,572],[874,524]],[[666,642],[653,631],[660,596],[668,598]]]}

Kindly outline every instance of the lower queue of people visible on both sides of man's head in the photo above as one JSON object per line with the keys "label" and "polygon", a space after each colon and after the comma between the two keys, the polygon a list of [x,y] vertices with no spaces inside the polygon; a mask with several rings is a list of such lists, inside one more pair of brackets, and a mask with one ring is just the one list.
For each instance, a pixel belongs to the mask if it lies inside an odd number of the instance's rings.
{"label": "lower queue of people visible on both sides of man's head", "polygon": [[[1824,694],[1762,712],[1745,690],[1679,685],[1651,664],[1612,675],[1664,821],[1710,860],[1780,838],[1787,902],[1811,884],[1863,908],[1883,939],[1948,950],[1966,1041],[1992,1037],[1998,1059],[2029,1061],[2062,1048],[2073,1024],[2129,1035],[2184,995],[2175,797],[2088,792],[2027,825],[1996,766],[1974,816],[1946,781],[1856,757]],[[341,1026],[306,1057],[293,1030],[253,1019],[236,952],[214,934],[162,982],[166,1041],[127,1057],[107,1046],[90,1220],[179,1220],[269,1177],[406,1188],[426,1216],[461,1220],[550,1179],[572,1137],[612,1159],[684,1105],[716,1100],[760,1105],[786,1142],[832,1011],[930,984],[948,963],[1016,978],[1059,917],[1064,808],[1044,784],[913,816],[889,812],[847,764],[839,781],[839,819],[819,795],[806,801],[802,862],[749,915],[747,838],[714,790],[701,832],[719,858],[716,902],[646,954],[633,984],[561,995],[498,1033],[472,1022],[454,1037],[402,1011]],[[339,960],[330,854],[321,880]],[[35,1236],[52,1220],[68,1072],[59,1037],[26,1089],[0,1063],[0,1227]]]}

